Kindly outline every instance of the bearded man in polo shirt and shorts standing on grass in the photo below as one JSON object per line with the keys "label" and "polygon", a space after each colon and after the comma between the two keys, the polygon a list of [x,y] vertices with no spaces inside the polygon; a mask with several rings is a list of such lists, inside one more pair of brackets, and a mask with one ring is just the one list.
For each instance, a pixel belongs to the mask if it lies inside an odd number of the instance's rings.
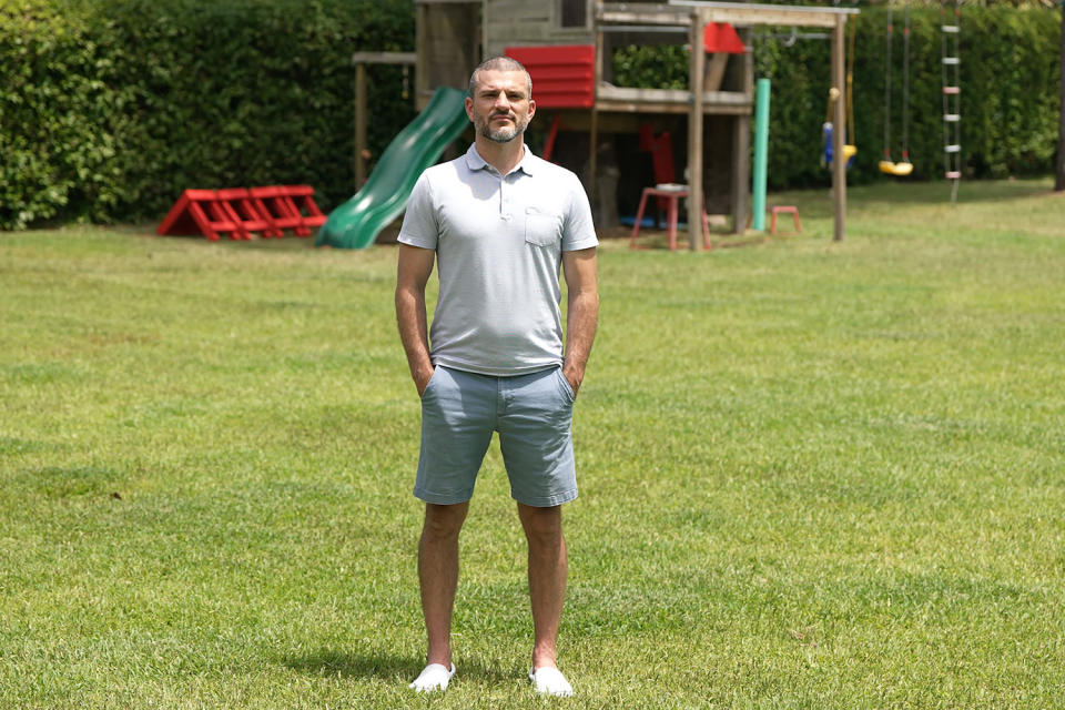
{"label": "bearded man in polo shirt and shorts standing on grass", "polygon": [[[599,317],[596,239],[577,176],[532,155],[523,135],[532,82],[513,59],[469,79],[476,141],[423,173],[399,232],[396,317],[422,397],[414,495],[425,501],[418,546],[427,666],[410,683],[445,689],[455,673],[450,626],[458,535],[493,432],[529,546],[532,668],[538,692],[570,696],[556,665],[566,591],[561,504],[577,497],[570,422]],[[432,348],[425,285],[439,268]],[[568,288],[566,347],[559,265]]]}

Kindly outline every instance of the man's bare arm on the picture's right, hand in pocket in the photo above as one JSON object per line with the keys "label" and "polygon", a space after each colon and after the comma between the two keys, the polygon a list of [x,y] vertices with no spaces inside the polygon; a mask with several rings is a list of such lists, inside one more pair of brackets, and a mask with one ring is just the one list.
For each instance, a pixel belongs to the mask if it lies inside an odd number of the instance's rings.
{"label": "man's bare arm on the picture's right, hand in pocket", "polygon": [[599,324],[595,247],[562,252],[562,271],[569,292],[562,375],[569,381],[574,394],[577,394],[585,378],[585,366],[588,364],[591,343],[596,339],[596,327]]}

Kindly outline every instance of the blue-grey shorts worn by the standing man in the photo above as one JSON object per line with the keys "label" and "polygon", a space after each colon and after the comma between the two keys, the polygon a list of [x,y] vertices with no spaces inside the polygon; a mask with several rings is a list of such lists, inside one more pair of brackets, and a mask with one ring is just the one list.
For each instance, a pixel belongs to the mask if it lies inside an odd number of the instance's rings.
{"label": "blue-grey shorts worn by the standing man", "polygon": [[495,377],[437,365],[422,394],[422,453],[414,495],[452,505],[474,495],[493,432],[518,503],[549,507],[577,497],[574,390],[560,367]]}

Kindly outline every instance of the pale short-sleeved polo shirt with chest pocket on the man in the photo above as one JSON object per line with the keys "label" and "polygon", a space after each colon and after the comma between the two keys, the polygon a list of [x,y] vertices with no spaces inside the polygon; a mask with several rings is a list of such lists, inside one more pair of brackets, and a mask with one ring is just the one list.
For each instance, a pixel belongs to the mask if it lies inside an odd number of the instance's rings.
{"label": "pale short-sleeved polo shirt with chest pocket on the man", "polygon": [[422,173],[399,242],[436,250],[435,365],[508,376],[562,364],[561,253],[599,244],[577,175],[528,146],[500,175],[470,145]]}

